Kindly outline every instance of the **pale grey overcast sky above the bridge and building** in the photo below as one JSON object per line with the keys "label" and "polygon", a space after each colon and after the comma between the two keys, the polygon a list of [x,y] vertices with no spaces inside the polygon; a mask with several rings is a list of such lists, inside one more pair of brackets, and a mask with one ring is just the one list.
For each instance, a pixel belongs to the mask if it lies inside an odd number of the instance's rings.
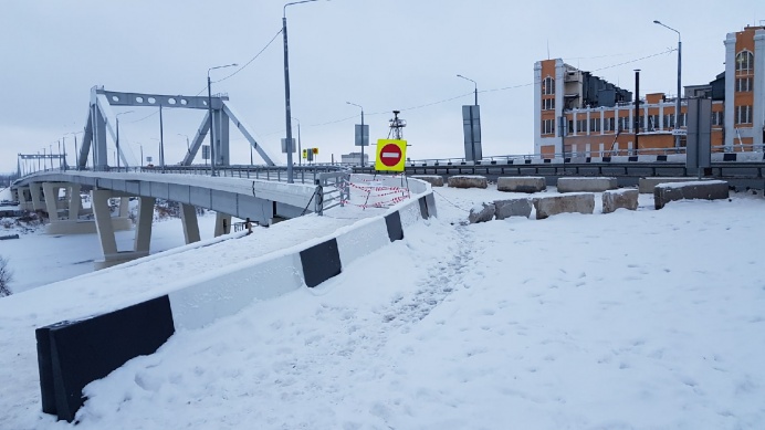
{"label": "pale grey overcast sky above the bridge and building", "polygon": [[[245,64],[282,27],[284,1],[7,0],[0,14],[0,171],[17,154],[53,148],[85,125],[90,88],[196,95],[211,66]],[[462,157],[461,105],[478,82],[483,154],[533,153],[534,62],[563,57],[633,91],[674,94],[677,34],[682,33],[683,85],[708,83],[724,70],[727,32],[765,20],[765,2],[319,0],[286,9],[292,114],[303,147],[319,161],[353,146],[364,106],[370,139],[388,135],[391,111],[408,122],[412,159]],[[642,60],[640,60],[642,59]],[[212,72],[213,81],[235,69]],[[281,34],[234,76],[213,84],[284,162],[284,75]],[[206,93],[203,93],[206,94]],[[439,103],[440,102],[440,103]],[[130,108],[115,108],[115,112]],[[120,116],[120,135],[137,162],[156,154],[156,108]],[[153,115],[154,114],[154,115]],[[164,109],[166,162],[186,150],[202,113]],[[145,118],[145,119],[142,119]],[[296,134],[297,122],[293,122]],[[73,135],[66,135],[73,154]],[[232,162],[248,164],[245,140],[232,132]],[[367,151],[374,153],[374,147]],[[130,157],[130,154],[128,154]],[[109,161],[112,156],[109,156]],[[71,156],[70,162],[74,161]],[[262,162],[255,154],[255,164]]]}

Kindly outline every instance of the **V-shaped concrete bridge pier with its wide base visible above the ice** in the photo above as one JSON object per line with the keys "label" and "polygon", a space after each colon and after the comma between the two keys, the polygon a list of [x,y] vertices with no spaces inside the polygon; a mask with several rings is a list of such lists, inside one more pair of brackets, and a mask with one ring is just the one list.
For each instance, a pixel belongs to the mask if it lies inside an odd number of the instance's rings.
{"label": "V-shaped concrete bridge pier with its wide base visible above the ice", "polygon": [[[98,240],[101,241],[101,249],[104,252],[104,260],[95,261],[94,266],[96,270],[111,268],[130,260],[139,259],[149,254],[148,244],[151,238],[151,217],[146,220],[144,217],[144,222],[148,222],[148,233],[144,232],[147,229],[140,229],[142,243],[140,251],[136,251],[138,248],[138,241],[134,245],[133,251],[119,252],[117,250],[117,240],[114,237],[115,230],[129,230],[130,219],[127,218],[127,201],[126,197],[120,196],[119,202],[119,214],[125,217],[113,218],[109,210],[109,198],[115,197],[115,191],[112,190],[93,190],[91,191],[91,204],[93,207],[93,214],[95,216],[96,231],[98,232]],[[150,199],[154,200],[154,199]],[[143,201],[142,201],[143,202]],[[153,202],[151,202],[153,203]],[[151,208],[151,214],[154,210],[154,204],[147,204]],[[124,210],[123,210],[124,208]],[[145,224],[144,224],[145,226]],[[137,230],[138,234],[138,230]],[[145,238],[148,237],[148,239]],[[145,251],[144,251],[145,248]]]}

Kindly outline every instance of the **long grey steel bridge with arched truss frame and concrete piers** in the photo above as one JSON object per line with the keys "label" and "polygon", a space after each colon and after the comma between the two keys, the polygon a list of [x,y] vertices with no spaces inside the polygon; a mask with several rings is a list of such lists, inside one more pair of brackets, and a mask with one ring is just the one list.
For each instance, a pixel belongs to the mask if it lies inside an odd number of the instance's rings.
{"label": "long grey steel bridge with arched truss frame and concrete piers", "polygon": [[[182,160],[167,166],[160,147],[159,166],[133,167],[119,145],[119,123],[113,106],[158,107],[160,118],[163,108],[205,109],[207,114]],[[263,166],[231,166],[232,124],[263,159]],[[210,167],[195,166],[193,160],[208,135]],[[75,166],[70,168],[64,162],[60,169],[33,171],[14,181],[11,191],[21,209],[48,213],[48,233],[97,233],[104,260],[96,262],[96,269],[148,255],[157,199],[180,204],[186,243],[200,240],[197,208],[216,211],[214,234],[220,235],[230,232],[234,217],[270,226],[304,213],[321,216],[347,200],[348,187],[344,185],[350,179],[349,169],[340,166],[276,167],[253,135],[228,96],[126,93],[94,86],[82,145],[75,149]],[[107,155],[112,150],[117,155],[117,166],[108,164]],[[64,198],[60,198],[62,189]],[[90,209],[83,209],[83,189],[90,191]],[[113,199],[119,201],[114,217],[109,207]],[[134,245],[130,250],[118,250],[114,232],[132,228],[130,199],[139,201]]]}

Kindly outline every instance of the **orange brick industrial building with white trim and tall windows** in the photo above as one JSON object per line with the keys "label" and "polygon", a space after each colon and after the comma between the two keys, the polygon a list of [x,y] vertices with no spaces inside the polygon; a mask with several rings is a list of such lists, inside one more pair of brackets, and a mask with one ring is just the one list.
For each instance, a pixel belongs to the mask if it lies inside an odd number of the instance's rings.
{"label": "orange brick industrial building with white trim and tall windows", "polygon": [[[762,151],[765,139],[765,27],[729,33],[725,72],[709,85],[685,86],[687,97],[712,98],[712,150]],[[663,93],[640,97],[639,125],[632,93],[560,59],[534,65],[534,153],[543,158],[684,151],[675,148],[675,98]],[[638,138],[636,139],[636,132]],[[637,143],[637,145],[636,145]]]}

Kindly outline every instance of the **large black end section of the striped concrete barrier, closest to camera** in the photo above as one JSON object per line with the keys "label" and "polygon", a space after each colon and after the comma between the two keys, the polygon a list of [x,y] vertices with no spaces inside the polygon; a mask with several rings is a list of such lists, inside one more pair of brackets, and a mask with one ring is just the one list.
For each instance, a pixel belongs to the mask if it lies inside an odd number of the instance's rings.
{"label": "large black end section of the striped concrete barrier, closest to camera", "polygon": [[82,390],[129,359],[154,354],[175,333],[167,295],[82,321],[38,328],[43,411],[72,422]]}

